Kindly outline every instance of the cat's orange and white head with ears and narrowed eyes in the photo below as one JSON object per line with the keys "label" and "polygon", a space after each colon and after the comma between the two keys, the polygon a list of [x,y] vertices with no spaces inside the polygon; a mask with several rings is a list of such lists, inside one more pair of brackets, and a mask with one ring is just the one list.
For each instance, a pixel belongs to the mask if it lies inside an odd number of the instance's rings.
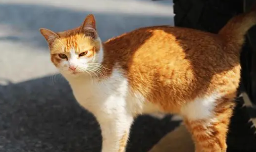
{"label": "cat's orange and white head with ears and narrowed eyes", "polygon": [[92,14],[78,28],[58,33],[41,28],[40,32],[48,42],[51,61],[62,74],[76,77],[99,67],[102,43]]}

